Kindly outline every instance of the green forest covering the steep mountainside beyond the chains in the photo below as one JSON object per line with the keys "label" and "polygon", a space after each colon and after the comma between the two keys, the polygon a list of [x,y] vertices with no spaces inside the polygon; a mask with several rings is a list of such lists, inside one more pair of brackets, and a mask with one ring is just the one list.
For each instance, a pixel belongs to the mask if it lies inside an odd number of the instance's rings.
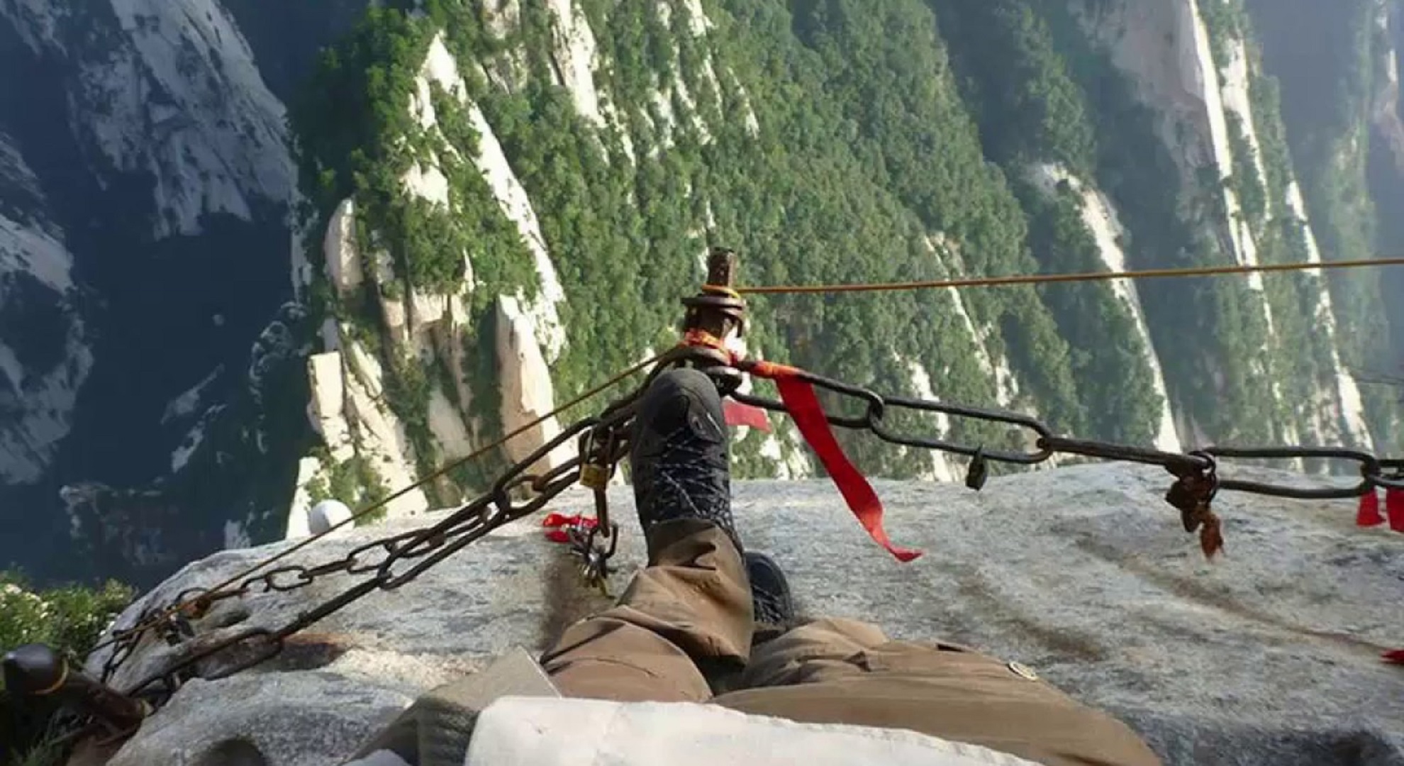
{"label": "green forest covering the steep mountainside beyond the chains", "polygon": [[[1265,261],[1306,256],[1302,222],[1285,205],[1299,152],[1276,82],[1255,63],[1258,162],[1245,126],[1231,124],[1243,149],[1233,167],[1206,167],[1184,188],[1153,108],[1087,34],[1098,3],[1078,11],[1026,0],[715,0],[703,3],[710,31],[695,35],[682,3],[660,13],[653,3],[583,0],[601,62],[595,86],[618,115],[614,129],[577,114],[556,84],[555,21],[543,4],[522,3],[504,35],[475,3],[421,6],[421,14],[396,3],[371,8],[323,53],[291,105],[303,225],[322,231],[337,202],[354,197],[362,243],[388,250],[395,271],[350,299],[319,285],[313,312],[338,316],[382,347],[376,291],[458,290],[461,253],[470,253],[475,319],[462,343],[479,360],[469,384],[483,396],[469,408],[490,430],[491,302],[538,285],[517,228],[465,159],[480,138],[470,105],[528,191],[567,295],[567,346],[552,365],[559,401],[630,365],[643,349],[675,342],[678,299],[696,291],[709,245],[741,254],[747,284],[1105,268],[1081,195],[1066,184],[1040,191],[1029,178],[1036,164],[1066,167],[1106,194],[1127,229],[1130,267],[1231,261],[1223,184],[1243,201]],[[1252,37],[1241,0],[1224,7],[1206,17],[1220,66],[1231,41]],[[469,104],[437,89],[439,129],[425,131],[407,104],[438,34],[459,62]],[[414,162],[435,162],[449,177],[449,209],[402,191],[399,178]],[[1320,197],[1313,190],[1324,183],[1306,176],[1307,195]],[[1323,247],[1341,246],[1346,222],[1313,216],[1334,232]],[[307,257],[320,263],[317,242]],[[1177,412],[1217,443],[1278,443],[1307,423],[1306,408],[1331,377],[1330,347],[1306,309],[1316,280],[1272,275],[1264,297],[1243,280],[1143,291]],[[1346,316],[1356,311],[1359,301],[1335,283],[1332,290],[1338,306],[1352,306]],[[1036,412],[1054,430],[1137,444],[1154,437],[1163,402],[1146,344],[1108,284],[960,298],[983,337],[965,329],[951,292],[925,291],[757,298],[750,343],[767,358],[887,394],[915,394],[915,363],[942,399],[993,406],[981,349],[1014,370],[1019,392],[1009,406]],[[431,468],[439,455],[425,424],[427,384],[448,372],[386,361],[389,401]],[[1397,410],[1372,408],[1376,437],[1391,439]],[[890,417],[893,429],[935,427]],[[970,444],[1016,439],[983,423],[952,427],[951,439]],[[873,439],[845,439],[875,474],[911,476],[928,465]],[[768,472],[758,447],[758,436],[739,446],[743,476]],[[477,485],[483,471],[490,468],[455,475],[459,489]],[[350,482],[355,471],[341,475]]]}

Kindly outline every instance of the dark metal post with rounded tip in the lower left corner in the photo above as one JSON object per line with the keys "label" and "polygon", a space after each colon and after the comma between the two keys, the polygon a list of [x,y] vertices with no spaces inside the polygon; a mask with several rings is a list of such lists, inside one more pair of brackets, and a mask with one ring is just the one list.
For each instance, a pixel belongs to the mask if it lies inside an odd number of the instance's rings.
{"label": "dark metal post with rounded tip in the lower left corner", "polygon": [[58,652],[44,644],[27,644],[4,655],[4,684],[20,699],[49,699],[90,715],[112,735],[135,729],[150,715],[150,704],[69,666]]}

